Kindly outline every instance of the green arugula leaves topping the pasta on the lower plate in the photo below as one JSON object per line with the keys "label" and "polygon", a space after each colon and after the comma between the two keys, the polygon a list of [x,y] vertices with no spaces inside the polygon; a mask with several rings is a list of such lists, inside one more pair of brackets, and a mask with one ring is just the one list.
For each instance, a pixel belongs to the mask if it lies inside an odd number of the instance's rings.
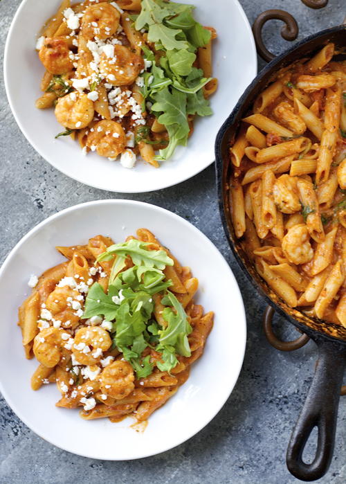
{"label": "green arugula leaves topping the pasta on the lower plate", "polygon": [[[122,352],[136,372],[137,378],[152,373],[154,364],[150,355],[143,355],[146,348],[161,353],[156,366],[170,371],[178,359],[176,355],[191,355],[188,334],[192,331],[183,306],[167,289],[171,280],[165,279],[163,270],[173,265],[173,260],[163,250],[147,249],[147,242],[129,240],[113,244],[98,260],[110,260],[115,255],[107,294],[99,283],[94,283],[86,297],[83,318],[104,316],[113,321],[113,346]],[[130,257],[133,267],[125,269]],[[166,328],[153,319],[154,294],[161,294],[165,305],[163,319]]]}

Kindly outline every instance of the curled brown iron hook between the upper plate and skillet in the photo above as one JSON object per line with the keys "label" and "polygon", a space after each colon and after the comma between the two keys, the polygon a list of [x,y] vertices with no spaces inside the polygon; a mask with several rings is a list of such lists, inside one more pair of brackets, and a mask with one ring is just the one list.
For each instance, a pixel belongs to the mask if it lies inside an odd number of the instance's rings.
{"label": "curled brown iron hook between the upper plate and skillet", "polygon": [[282,20],[284,22],[284,26],[281,30],[281,36],[285,40],[295,40],[298,36],[298,24],[295,21],[295,18],[289,12],[285,12],[285,10],[277,10],[275,8],[271,10],[265,10],[264,12],[260,13],[258,17],[253,22],[253,36],[255,37],[257,52],[260,54],[262,59],[270,62],[273,60],[275,55],[268,51],[266,46],[264,45],[262,39],[262,28],[264,24],[268,20]]}

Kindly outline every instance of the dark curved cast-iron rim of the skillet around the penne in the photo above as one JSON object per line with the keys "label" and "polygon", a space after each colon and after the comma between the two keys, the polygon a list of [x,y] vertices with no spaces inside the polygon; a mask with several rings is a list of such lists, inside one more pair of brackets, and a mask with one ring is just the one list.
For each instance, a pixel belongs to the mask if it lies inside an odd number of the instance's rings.
{"label": "dark curved cast-iron rim of the skillet around the penne", "polygon": [[262,294],[266,301],[271,304],[275,310],[286,316],[286,318],[288,318],[295,326],[298,326],[300,330],[307,332],[309,336],[316,339],[317,331],[318,333],[327,336],[328,339],[346,341],[346,328],[343,328],[341,325],[311,318],[299,310],[292,309],[287,306],[270,287],[268,287],[264,280],[262,280],[260,275],[257,274],[257,271],[255,271],[253,262],[248,258],[246,252],[235,237],[228,202],[228,180],[231,171],[229,148],[230,143],[235,139],[240,121],[251,109],[257,95],[263,91],[268,84],[275,80],[277,72],[280,71],[280,69],[284,69],[286,66],[289,66],[293,62],[297,62],[304,57],[311,57],[328,42],[334,42],[334,44],[336,44],[336,50],[340,51],[338,55],[334,56],[334,60],[344,60],[346,58],[346,26],[338,26],[323,30],[316,35],[311,35],[311,37],[307,37],[307,39],[304,39],[302,42],[295,45],[294,48],[291,48],[289,51],[286,51],[283,55],[276,57],[270,62],[270,64],[261,71],[260,75],[257,75],[257,78],[255,78],[246,89],[232,114],[230,114],[229,118],[221,127],[215,143],[215,155],[219,208],[221,219],[224,224],[224,230],[235,258],[255,289]]}

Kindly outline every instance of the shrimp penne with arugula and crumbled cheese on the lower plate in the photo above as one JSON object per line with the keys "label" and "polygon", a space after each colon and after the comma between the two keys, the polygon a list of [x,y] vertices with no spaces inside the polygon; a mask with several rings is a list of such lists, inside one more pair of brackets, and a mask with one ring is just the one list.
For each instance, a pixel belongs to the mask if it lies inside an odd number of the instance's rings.
{"label": "shrimp penne with arugula and crumbled cheese on the lower plate", "polygon": [[186,382],[213,313],[194,304],[198,280],[145,228],[113,244],[57,247],[66,262],[31,276],[19,308],[33,390],[55,383],[57,406],[86,420],[143,422]]}

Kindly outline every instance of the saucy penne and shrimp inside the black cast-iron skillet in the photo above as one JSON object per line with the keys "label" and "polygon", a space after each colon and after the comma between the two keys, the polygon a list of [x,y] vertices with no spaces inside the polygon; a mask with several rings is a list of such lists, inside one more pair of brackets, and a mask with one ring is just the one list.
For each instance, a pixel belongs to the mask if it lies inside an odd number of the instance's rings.
{"label": "saucy penne and shrimp inside the black cast-iron skillet", "polygon": [[235,235],[290,307],[346,328],[346,63],[284,69],[230,147]]}

